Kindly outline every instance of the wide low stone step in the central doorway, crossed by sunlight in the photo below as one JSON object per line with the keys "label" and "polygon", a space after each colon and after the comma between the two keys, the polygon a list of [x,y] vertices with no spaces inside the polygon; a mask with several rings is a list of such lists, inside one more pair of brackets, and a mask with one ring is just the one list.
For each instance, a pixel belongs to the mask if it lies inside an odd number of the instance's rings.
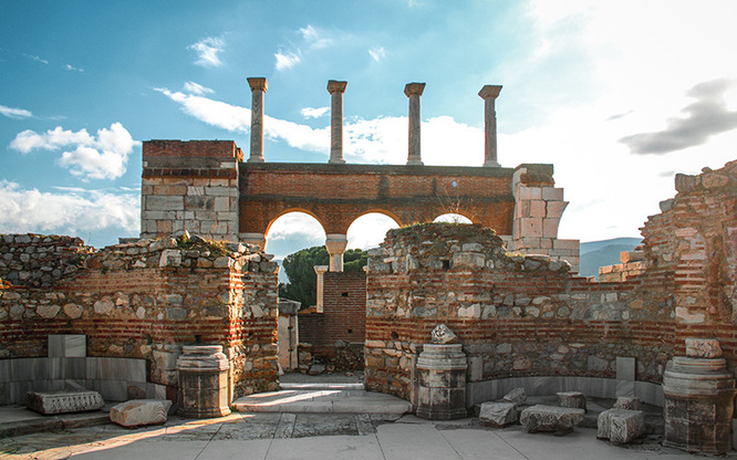
{"label": "wide low stone step in the central doorway, crossed by sunlight", "polygon": [[282,384],[279,391],[259,393],[232,404],[238,412],[393,414],[412,411],[401,398],[366,391],[362,384]]}

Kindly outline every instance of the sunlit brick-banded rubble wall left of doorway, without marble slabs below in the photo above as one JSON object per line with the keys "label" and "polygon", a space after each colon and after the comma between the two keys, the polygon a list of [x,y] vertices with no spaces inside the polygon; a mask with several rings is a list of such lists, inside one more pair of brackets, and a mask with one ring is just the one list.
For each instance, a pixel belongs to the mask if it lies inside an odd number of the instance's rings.
{"label": "sunlit brick-banded rubble wall left of doorway, without marble slabs below", "polygon": [[84,255],[52,286],[2,284],[0,358],[43,357],[49,334],[85,334],[87,356],[146,359],[147,381],[174,389],[181,345],[218,344],[233,396],[276,388],[278,265],[258,248],[183,237]]}

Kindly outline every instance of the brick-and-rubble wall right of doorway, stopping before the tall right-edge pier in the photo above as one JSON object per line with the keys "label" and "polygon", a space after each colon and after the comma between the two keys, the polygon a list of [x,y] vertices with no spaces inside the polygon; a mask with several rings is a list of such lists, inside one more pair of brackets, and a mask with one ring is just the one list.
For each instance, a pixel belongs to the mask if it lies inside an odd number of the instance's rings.
{"label": "brick-and-rubble wall right of doorway, stopping before the tall right-edge pier", "polygon": [[489,229],[423,224],[391,230],[367,270],[369,388],[407,398],[429,332],[447,324],[468,355],[469,381],[561,375],[660,381],[672,356],[673,305],[643,280],[590,283],[547,255],[510,253]]}

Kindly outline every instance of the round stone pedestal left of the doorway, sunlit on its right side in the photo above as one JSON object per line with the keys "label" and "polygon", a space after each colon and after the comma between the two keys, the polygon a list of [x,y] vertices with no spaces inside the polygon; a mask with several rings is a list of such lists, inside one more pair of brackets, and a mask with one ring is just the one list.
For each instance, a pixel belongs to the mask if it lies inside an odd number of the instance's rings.
{"label": "round stone pedestal left of the doorway, sunlit on its right side", "polygon": [[181,417],[209,418],[230,414],[228,358],[220,345],[184,346],[177,359]]}

